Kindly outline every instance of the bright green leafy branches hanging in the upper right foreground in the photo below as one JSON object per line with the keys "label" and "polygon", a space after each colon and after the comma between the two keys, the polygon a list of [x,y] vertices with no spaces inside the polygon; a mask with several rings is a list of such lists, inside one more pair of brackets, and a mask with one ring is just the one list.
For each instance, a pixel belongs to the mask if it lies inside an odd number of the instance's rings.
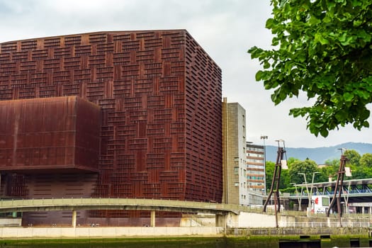
{"label": "bright green leafy branches hanging in the upper right foreground", "polygon": [[275,104],[300,91],[312,106],[292,108],[314,135],[352,123],[368,127],[372,102],[372,0],[271,0],[273,50],[252,47],[263,65],[256,80],[274,89]]}

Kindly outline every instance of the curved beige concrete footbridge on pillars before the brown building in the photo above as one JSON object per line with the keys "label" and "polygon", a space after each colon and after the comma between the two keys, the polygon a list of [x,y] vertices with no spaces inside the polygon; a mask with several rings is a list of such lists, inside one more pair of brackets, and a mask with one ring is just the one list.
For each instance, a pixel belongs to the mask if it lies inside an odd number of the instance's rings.
{"label": "curved beige concrete footbridge on pillars before the brown building", "polygon": [[221,203],[138,198],[47,198],[0,201],[0,213],[57,210],[72,210],[73,227],[76,227],[77,210],[150,210],[152,227],[155,226],[156,211],[212,213],[216,216],[216,226],[225,227],[227,214],[239,215],[241,211],[247,211],[247,207]]}

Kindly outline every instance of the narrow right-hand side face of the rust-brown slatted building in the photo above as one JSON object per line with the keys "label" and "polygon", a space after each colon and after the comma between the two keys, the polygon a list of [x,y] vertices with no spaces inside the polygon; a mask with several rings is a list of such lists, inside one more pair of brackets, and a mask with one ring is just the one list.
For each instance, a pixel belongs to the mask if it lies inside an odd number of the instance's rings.
{"label": "narrow right-hand side face of the rust-brown slatted building", "polygon": [[186,68],[186,199],[221,202],[221,70],[190,35]]}

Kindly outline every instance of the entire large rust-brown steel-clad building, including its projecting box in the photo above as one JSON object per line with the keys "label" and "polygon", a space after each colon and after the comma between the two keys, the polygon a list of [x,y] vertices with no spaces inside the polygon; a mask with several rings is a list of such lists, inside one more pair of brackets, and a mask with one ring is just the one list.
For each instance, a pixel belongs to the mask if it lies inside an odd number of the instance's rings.
{"label": "entire large rust-brown steel-clad building, including its projecting box", "polygon": [[[186,30],[1,43],[1,195],[220,202],[221,84]],[[149,215],[80,211],[77,223],[138,225]],[[26,213],[23,224],[70,218]]]}

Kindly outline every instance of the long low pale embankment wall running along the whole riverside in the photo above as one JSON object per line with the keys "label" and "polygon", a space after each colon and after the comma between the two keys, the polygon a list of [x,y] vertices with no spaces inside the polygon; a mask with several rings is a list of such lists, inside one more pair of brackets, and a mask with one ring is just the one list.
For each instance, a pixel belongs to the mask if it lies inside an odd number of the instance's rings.
{"label": "long low pale embankment wall running along the whole riverside", "polygon": [[249,237],[283,235],[370,235],[366,227],[228,228],[223,227],[0,227],[0,239],[124,237]]}

